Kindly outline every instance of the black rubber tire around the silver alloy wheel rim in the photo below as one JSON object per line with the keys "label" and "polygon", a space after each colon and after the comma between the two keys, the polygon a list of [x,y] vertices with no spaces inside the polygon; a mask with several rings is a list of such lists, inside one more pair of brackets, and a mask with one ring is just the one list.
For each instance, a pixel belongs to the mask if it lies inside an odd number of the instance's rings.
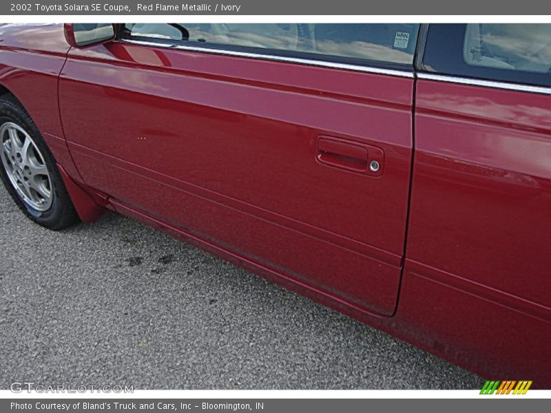
{"label": "black rubber tire around the silver alloy wheel rim", "polygon": [[[30,138],[32,138],[34,145],[36,145],[41,152],[44,164],[50,174],[52,204],[47,210],[39,211],[23,200],[22,196],[14,188],[14,184],[12,184],[10,178],[8,178],[6,167],[0,162],[0,176],[2,182],[19,209],[21,209],[30,220],[54,231],[65,229],[78,222],[79,215],[76,214],[74,205],[67,193],[63,179],[57,169],[54,156],[52,156],[50,149],[46,146],[37,125],[34,125],[34,122],[27,111],[25,111],[23,105],[21,105],[19,100],[14,98],[11,94],[0,96],[0,127],[6,122],[15,123],[23,128]],[[3,145],[6,138],[1,136],[0,140],[0,145]],[[3,150],[3,147],[0,146],[0,150]]]}

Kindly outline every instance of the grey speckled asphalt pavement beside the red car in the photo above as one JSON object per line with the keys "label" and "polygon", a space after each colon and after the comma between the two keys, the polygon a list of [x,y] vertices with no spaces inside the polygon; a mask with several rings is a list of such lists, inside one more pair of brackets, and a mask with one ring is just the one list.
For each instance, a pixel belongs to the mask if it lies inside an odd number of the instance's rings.
{"label": "grey speckled asphalt pavement beside the red car", "polygon": [[484,381],[118,215],[56,233],[0,184],[0,388],[481,388]]}

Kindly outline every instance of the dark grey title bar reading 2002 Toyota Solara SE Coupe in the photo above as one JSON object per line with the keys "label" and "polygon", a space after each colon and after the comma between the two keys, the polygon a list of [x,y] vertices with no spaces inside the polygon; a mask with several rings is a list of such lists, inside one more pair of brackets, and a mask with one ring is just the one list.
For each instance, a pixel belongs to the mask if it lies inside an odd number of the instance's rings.
{"label": "dark grey title bar reading 2002 Toyota Solara SE Coupe", "polygon": [[2,1],[0,14],[10,15],[380,15],[380,14],[471,14],[471,15],[549,15],[551,2],[542,0],[227,0],[197,1]]}

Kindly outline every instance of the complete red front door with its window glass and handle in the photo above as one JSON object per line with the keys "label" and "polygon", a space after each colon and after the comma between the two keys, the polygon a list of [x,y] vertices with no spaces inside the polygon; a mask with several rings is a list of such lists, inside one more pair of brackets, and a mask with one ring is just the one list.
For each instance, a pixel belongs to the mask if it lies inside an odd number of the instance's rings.
{"label": "complete red front door with its window glass and handle", "polygon": [[117,202],[391,315],[417,26],[127,25],[70,50],[65,136]]}

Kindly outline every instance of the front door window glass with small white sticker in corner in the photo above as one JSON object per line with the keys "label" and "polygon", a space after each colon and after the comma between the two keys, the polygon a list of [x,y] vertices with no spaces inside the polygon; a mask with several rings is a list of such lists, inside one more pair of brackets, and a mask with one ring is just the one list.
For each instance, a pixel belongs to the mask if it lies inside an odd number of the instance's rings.
{"label": "front door window glass with small white sticker in corner", "polygon": [[413,65],[418,24],[130,23],[124,36],[360,63]]}

